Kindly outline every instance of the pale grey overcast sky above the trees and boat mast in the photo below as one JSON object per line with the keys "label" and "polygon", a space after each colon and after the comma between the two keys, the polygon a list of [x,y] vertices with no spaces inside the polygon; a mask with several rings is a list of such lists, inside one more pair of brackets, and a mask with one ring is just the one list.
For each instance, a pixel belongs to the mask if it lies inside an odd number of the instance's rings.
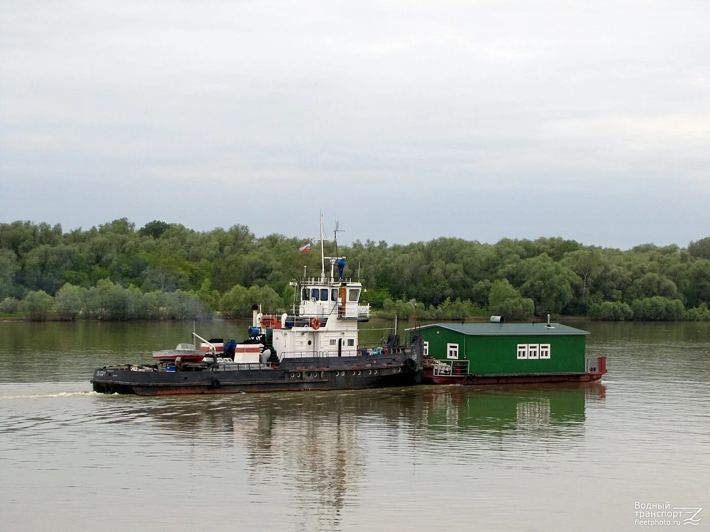
{"label": "pale grey overcast sky above the trees and boat mast", "polygon": [[0,221],[687,245],[710,2],[0,2]]}

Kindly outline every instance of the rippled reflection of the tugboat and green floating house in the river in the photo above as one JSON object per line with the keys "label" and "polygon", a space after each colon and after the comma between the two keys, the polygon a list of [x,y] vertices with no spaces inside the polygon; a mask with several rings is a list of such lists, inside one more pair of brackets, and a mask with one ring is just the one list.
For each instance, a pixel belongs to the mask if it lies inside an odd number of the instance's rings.
{"label": "rippled reflection of the tugboat and green floating house in the river", "polygon": [[148,421],[143,427],[157,427],[160,441],[192,449],[195,460],[238,457],[245,476],[230,473],[225,479],[231,480],[220,484],[232,495],[263,502],[287,490],[299,523],[293,528],[337,530],[346,506],[367,498],[364,490],[393,453],[394,460],[411,455],[415,475],[431,472],[432,461],[475,465],[482,456],[491,458],[504,438],[534,445],[531,453],[564,450],[571,440],[579,442],[589,405],[604,393],[598,383],[421,386],[127,405]]}

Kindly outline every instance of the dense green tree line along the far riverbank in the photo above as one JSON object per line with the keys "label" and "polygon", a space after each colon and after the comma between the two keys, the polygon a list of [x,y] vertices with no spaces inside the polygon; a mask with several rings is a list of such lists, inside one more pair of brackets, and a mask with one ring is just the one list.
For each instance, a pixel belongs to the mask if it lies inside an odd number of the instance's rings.
{"label": "dense green tree line along the far riverbank", "polygon": [[[88,230],[0,224],[0,312],[29,318],[180,319],[249,316],[251,305],[283,310],[289,282],[320,272],[306,239],[257,237],[247,226],[193,231],[126,218]],[[598,319],[710,319],[710,237],[629,250],[559,237],[460,238],[339,246],[346,276],[367,288],[381,316],[509,319],[555,315]]]}

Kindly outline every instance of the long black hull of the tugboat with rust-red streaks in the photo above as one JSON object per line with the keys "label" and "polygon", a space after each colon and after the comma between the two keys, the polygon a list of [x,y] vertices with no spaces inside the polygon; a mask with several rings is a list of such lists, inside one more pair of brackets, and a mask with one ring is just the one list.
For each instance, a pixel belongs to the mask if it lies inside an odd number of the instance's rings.
{"label": "long black hull of the tugboat with rust-red streaks", "polygon": [[134,371],[130,366],[94,372],[94,392],[175,395],[288,392],[406,386],[421,381],[421,367],[408,351],[391,355],[286,359],[275,368],[234,370],[229,365],[199,371]]}

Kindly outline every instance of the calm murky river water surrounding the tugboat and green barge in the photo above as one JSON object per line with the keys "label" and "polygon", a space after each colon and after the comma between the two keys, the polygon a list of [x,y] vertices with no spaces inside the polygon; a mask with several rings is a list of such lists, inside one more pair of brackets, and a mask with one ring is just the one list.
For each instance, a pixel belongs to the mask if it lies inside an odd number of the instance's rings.
{"label": "calm murky river water surrounding the tugboat and green barge", "polygon": [[[569,325],[601,384],[151,398],[94,367],[192,324],[0,322],[0,529],[710,529],[710,323]],[[635,523],[666,502],[699,525]]]}

